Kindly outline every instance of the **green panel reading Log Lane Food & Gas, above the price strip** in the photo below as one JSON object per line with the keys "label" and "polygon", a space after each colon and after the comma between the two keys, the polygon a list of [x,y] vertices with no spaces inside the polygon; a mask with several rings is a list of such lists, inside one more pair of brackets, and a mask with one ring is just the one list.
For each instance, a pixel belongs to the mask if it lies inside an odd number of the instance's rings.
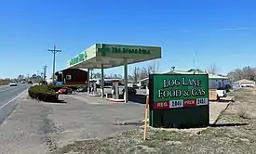
{"label": "green panel reading Log Lane Food & Gas, above the price strip", "polygon": [[153,77],[153,101],[195,100],[209,97],[207,74],[157,74]]}

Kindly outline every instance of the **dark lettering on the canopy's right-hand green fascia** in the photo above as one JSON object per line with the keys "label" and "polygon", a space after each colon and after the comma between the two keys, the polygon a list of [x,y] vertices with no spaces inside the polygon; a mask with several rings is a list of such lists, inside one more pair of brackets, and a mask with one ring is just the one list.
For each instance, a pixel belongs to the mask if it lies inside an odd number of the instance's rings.
{"label": "dark lettering on the canopy's right-hand green fascia", "polygon": [[150,50],[143,48],[111,47],[111,52],[115,54],[150,55]]}

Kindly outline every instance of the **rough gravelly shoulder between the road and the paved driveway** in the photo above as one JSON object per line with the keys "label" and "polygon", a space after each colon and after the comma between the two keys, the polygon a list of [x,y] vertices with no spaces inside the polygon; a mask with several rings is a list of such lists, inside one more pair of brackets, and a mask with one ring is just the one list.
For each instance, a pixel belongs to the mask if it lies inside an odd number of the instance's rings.
{"label": "rough gravelly shoulder between the road and the paved driveway", "polygon": [[50,109],[27,99],[26,96],[21,96],[17,101],[19,101],[17,109],[0,126],[0,151],[15,154],[45,154],[47,114]]}

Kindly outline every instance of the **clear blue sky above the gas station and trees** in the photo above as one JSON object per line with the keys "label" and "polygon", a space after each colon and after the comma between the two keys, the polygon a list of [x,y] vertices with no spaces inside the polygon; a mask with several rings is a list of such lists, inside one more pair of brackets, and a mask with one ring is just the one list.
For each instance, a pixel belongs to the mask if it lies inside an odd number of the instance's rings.
{"label": "clear blue sky above the gas station and trees", "polygon": [[[34,74],[57,45],[57,70],[95,43],[160,45],[160,71],[220,73],[256,65],[256,1],[9,0],[0,2],[0,77]],[[149,62],[129,66],[147,66]],[[122,74],[122,68],[106,73]]]}

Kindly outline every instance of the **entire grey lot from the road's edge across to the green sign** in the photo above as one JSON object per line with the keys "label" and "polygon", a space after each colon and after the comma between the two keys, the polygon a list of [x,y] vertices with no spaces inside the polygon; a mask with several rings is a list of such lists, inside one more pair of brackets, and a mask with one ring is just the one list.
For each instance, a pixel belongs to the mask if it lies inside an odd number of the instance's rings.
{"label": "entire grey lot from the road's edge across to the green sign", "polygon": [[[59,104],[26,96],[0,126],[0,153],[45,154],[74,140],[102,139],[139,128],[144,106],[97,97],[60,96]],[[120,123],[128,123],[120,125]]]}

